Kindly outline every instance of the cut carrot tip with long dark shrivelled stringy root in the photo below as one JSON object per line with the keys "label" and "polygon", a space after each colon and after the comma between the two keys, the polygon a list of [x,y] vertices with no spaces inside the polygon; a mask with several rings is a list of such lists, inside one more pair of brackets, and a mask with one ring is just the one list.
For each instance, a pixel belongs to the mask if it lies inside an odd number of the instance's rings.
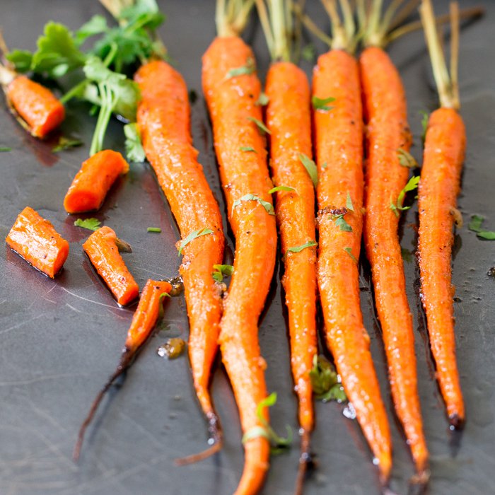
{"label": "cut carrot tip with long dark shrivelled stringy root", "polygon": [[[102,227],[102,229],[105,227]],[[102,230],[100,229],[100,230]],[[156,281],[149,279],[144,286],[139,299],[139,304],[136,308],[136,312],[132,317],[131,326],[127,332],[127,339],[125,341],[125,347],[122,350],[122,356],[120,358],[119,365],[115,370],[115,373],[110,376],[105,386],[100,390],[96,396],[91,408],[88,412],[88,416],[84,419],[81,429],[79,429],[78,439],[76,446],[74,447],[73,458],[78,460],[81,453],[81,447],[83,445],[84,433],[89,424],[93,420],[93,417],[98,409],[105,392],[112,386],[112,383],[124,373],[124,371],[132,365],[137,352],[141,349],[142,345],[146,342],[153,328],[158,320],[161,306],[163,304],[163,295],[169,294],[172,290],[172,286],[167,281]]]}

